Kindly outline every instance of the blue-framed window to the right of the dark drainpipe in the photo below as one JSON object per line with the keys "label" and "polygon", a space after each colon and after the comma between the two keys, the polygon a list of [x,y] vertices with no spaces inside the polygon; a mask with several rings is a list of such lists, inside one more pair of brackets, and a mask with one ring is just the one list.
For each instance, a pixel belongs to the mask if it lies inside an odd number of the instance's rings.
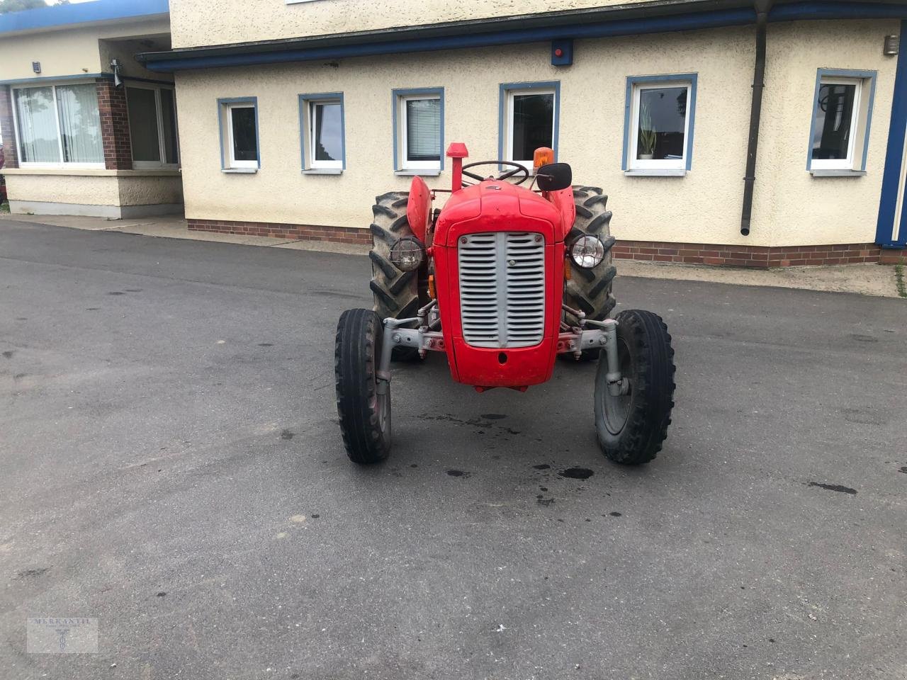
{"label": "blue-framed window to the right of the dark drainpipe", "polygon": [[874,90],[874,72],[819,70],[807,170],[818,174],[865,170]]}

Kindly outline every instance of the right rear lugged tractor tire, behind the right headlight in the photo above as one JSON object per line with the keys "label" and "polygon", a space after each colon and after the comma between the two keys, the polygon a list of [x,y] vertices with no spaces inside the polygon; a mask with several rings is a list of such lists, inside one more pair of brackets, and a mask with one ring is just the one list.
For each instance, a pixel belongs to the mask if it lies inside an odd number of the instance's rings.
{"label": "right rear lugged tractor tire, behind the right headlight", "polygon": [[[607,318],[617,304],[611,295],[611,282],[617,270],[611,265],[611,247],[614,237],[610,232],[611,212],[607,209],[608,197],[598,187],[573,187],[576,221],[568,240],[582,235],[597,236],[605,244],[605,257],[598,267],[581,269],[571,267],[571,280],[564,287],[564,304],[586,313],[586,318],[601,321]],[[568,315],[567,323],[575,325],[576,319]]]}

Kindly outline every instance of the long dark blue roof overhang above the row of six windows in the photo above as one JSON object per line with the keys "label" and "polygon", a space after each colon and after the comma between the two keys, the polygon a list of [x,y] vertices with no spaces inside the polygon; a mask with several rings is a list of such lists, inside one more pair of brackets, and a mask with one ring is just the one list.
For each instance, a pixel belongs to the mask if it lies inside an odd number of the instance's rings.
{"label": "long dark blue roof overhang above the row of six windows", "polygon": [[[777,0],[769,21],[907,18],[905,0]],[[305,38],[142,53],[150,71],[306,62],[502,44],[665,33],[756,23],[752,0],[652,0],[627,5],[402,26]]]}

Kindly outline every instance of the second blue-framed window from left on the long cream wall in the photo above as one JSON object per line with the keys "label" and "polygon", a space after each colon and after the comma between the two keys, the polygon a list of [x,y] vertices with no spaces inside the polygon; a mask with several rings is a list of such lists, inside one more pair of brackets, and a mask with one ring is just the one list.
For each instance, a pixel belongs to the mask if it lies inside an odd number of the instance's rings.
{"label": "second blue-framed window from left on the long cream wall", "polygon": [[339,174],[346,167],[343,94],[300,94],[302,171]]}

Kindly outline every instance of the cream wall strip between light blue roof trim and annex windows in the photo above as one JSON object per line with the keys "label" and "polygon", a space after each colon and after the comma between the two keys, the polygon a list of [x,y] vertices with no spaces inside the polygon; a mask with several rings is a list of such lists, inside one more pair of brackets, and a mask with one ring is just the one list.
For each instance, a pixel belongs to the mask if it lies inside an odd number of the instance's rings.
{"label": "cream wall strip between light blue roof trim and annex windows", "polygon": [[[106,53],[102,53],[99,40],[120,40],[169,33],[169,21],[153,19],[4,35],[0,37],[0,81],[109,72],[110,58]],[[132,63],[135,61],[132,54],[129,55],[129,61]],[[36,76],[32,71],[32,62],[41,62],[40,76]],[[129,68],[132,69],[132,65]],[[135,68],[141,67],[136,63]],[[141,69],[141,72],[149,73],[144,69]],[[160,76],[155,77],[161,79]]]}

